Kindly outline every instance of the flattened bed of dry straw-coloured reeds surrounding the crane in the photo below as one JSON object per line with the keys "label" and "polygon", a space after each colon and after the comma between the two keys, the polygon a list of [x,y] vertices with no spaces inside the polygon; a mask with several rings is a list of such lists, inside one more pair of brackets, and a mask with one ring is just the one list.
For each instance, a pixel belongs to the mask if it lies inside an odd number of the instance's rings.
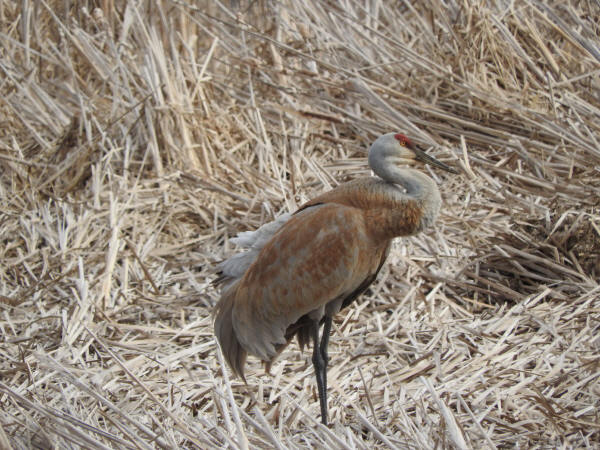
{"label": "flattened bed of dry straw-coloured reeds surrounding the crane", "polygon": [[[233,3],[0,3],[0,447],[600,445],[598,4]],[[223,370],[211,268],[390,130],[462,173],[326,429],[295,345]]]}

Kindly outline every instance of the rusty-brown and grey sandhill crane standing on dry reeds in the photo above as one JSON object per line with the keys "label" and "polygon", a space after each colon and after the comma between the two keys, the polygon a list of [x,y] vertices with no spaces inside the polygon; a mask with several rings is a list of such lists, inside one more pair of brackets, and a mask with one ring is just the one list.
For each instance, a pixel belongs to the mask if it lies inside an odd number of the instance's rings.
{"label": "rusty-brown and grey sandhill crane standing on dry reeds", "polygon": [[[321,423],[328,424],[327,365],[333,317],[375,280],[392,240],[430,227],[441,206],[436,183],[407,167],[455,169],[405,134],[387,133],[369,149],[375,176],[341,184],[283,214],[234,244],[246,248],[217,265],[221,296],[214,332],[232,372],[246,382],[248,354],[267,364],[297,338],[312,341]],[[319,334],[319,330],[323,331]]]}

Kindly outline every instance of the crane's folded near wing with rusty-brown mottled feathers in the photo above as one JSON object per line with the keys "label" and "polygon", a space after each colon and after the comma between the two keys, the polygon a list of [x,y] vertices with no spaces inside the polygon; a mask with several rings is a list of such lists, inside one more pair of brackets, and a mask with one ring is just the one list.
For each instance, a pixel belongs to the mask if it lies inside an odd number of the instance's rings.
{"label": "crane's folded near wing with rusty-brown mottled feathers", "polygon": [[323,314],[327,303],[355,293],[376,273],[386,246],[372,242],[367,228],[361,210],[340,204],[293,215],[237,286],[232,322],[245,350],[272,359],[290,325]]}

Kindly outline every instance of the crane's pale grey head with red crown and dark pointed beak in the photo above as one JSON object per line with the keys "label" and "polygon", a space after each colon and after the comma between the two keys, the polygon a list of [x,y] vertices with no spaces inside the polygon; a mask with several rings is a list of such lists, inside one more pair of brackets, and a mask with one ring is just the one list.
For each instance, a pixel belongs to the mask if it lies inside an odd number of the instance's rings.
{"label": "crane's pale grey head with red crown and dark pointed beak", "polygon": [[369,151],[369,165],[372,168],[382,164],[414,165],[417,162],[431,164],[451,173],[458,173],[452,167],[429,156],[402,133],[388,133],[380,136]]}

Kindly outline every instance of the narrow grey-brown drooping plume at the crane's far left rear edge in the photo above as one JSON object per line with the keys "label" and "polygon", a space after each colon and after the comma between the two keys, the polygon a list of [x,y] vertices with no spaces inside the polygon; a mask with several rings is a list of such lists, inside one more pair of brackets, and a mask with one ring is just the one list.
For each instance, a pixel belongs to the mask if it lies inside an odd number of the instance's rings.
{"label": "narrow grey-brown drooping plume at the crane's far left rear edge", "polygon": [[236,285],[227,288],[215,307],[215,335],[227,364],[229,364],[233,373],[244,380],[245,383],[244,365],[246,364],[247,352],[240,344],[233,328],[232,313],[235,288]]}

